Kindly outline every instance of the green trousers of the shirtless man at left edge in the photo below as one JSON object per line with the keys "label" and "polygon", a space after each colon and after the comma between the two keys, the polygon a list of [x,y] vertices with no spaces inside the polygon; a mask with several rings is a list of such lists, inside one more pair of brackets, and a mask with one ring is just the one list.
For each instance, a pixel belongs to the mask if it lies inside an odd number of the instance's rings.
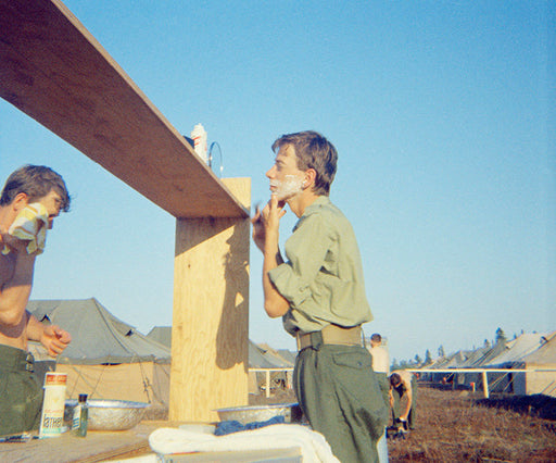
{"label": "green trousers of the shirtless man at left edge", "polygon": [[0,436],[39,428],[43,392],[33,365],[30,353],[0,345]]}

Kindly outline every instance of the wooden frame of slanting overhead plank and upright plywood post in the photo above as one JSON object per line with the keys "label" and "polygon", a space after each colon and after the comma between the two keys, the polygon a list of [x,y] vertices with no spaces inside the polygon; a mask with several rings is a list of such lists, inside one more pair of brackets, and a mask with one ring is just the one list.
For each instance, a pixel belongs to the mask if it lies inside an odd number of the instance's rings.
{"label": "wooden frame of slanting overhead plank and upright plywood post", "polygon": [[0,96],[177,218],[170,420],[245,404],[250,180],[220,182],[59,0],[0,0]]}

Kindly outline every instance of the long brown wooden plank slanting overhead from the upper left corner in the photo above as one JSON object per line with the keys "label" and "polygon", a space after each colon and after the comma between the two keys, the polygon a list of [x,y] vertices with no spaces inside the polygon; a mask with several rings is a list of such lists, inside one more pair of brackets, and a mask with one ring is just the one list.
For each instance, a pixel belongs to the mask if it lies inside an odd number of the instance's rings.
{"label": "long brown wooden plank slanting overhead from the upper left corner", "polygon": [[61,1],[0,1],[0,96],[176,217],[249,216]]}

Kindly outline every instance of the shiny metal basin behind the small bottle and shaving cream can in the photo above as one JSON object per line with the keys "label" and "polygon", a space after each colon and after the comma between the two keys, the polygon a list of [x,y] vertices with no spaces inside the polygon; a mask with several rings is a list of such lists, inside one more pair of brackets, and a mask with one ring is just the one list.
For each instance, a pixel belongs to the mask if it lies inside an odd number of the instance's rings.
{"label": "shiny metal basin behind the small bottle and shaving cream can", "polygon": [[[90,399],[89,430],[125,430],[136,426],[144,415],[149,403],[127,400]],[[64,420],[71,425],[77,400],[65,401]]]}

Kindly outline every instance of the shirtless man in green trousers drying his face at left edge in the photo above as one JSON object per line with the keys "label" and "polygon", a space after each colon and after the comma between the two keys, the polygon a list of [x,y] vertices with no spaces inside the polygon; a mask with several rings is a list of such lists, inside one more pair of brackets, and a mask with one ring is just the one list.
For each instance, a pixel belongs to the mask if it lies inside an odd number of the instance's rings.
{"label": "shirtless man in green trousers drying his face at left edge", "polygon": [[46,166],[25,165],[8,177],[0,195],[0,435],[37,429],[42,406],[42,385],[33,375],[34,359],[27,342],[38,341],[51,356],[72,338],[55,325],[45,326],[26,311],[35,259],[28,241],[8,233],[20,212],[40,203],[48,213],[48,228],[61,211],[70,210],[70,195],[62,177]]}

